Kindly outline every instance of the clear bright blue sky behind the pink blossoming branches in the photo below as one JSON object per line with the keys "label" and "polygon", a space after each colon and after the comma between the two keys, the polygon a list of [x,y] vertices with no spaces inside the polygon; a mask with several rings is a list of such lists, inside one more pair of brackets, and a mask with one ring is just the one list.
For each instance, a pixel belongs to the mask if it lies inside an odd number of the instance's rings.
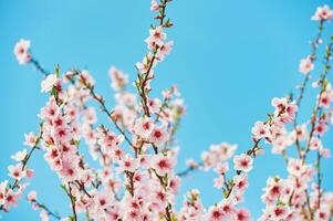
{"label": "clear bright blue sky behind the pink blossoming branches", "polygon": [[[97,91],[112,105],[107,70],[114,64],[134,80],[134,63],[146,51],[144,39],[153,17],[149,2],[0,1],[0,180],[7,178],[10,155],[22,149],[23,134],[38,130],[37,114],[46,99],[40,94],[40,75],[31,66],[18,65],[12,54],[14,43],[30,39],[34,56],[49,70],[56,63],[62,70],[89,69]],[[173,1],[167,14],[175,23],[168,32],[175,48],[157,67],[153,86],[160,91],[176,83],[186,101],[187,114],[178,134],[178,169],[184,168],[186,158],[198,159],[210,144],[238,144],[238,152],[250,147],[251,126],[272,110],[271,98],[284,96],[301,82],[299,60],[310,52],[309,40],[316,33],[316,23],[310,18],[323,3],[330,1]],[[325,33],[332,33],[332,25]],[[303,119],[310,115],[313,95],[310,91],[305,94]],[[332,135],[326,135],[331,137],[325,139],[327,147],[332,147]],[[323,160],[325,188],[333,187],[332,162]],[[69,200],[42,152],[33,156],[30,166],[35,177],[28,189],[38,189],[41,201],[50,208],[62,214],[70,212]],[[272,175],[285,175],[283,160],[267,149],[264,157],[256,159],[244,202],[254,218],[263,207],[261,188]],[[212,189],[212,173],[197,172],[184,180],[181,193],[199,187],[205,204],[211,204],[221,199]],[[179,196],[178,202],[181,200]],[[38,218],[24,200],[11,213],[2,214],[3,220]]]}

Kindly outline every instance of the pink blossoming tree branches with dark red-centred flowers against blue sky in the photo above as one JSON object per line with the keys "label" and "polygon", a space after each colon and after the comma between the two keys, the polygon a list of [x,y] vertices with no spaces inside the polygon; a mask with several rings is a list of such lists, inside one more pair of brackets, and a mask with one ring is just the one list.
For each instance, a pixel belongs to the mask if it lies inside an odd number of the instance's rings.
{"label": "pink blossoming tree branches with dark red-centred flowers against blue sky", "polygon": [[[40,211],[42,220],[247,221],[251,220],[250,211],[239,203],[248,188],[248,173],[256,168],[254,159],[266,143],[272,154],[285,160],[288,176],[268,178],[261,196],[266,208],[259,220],[332,220],[333,192],[322,189],[321,160],[330,157],[322,137],[333,123],[333,90],[327,78],[333,36],[323,40],[322,32],[333,19],[333,11],[327,6],[316,9],[312,20],[319,23],[319,30],[311,42],[311,53],[300,62],[304,80],[294,96],[272,99],[272,113],[267,119],[256,122],[251,129],[252,146],[246,152],[236,154],[236,145],[211,145],[200,161],[190,159],[186,170],[176,172],[175,135],[185,106],[177,86],[163,91],[162,97],[150,95],[154,69],[174,44],[165,33],[173,27],[166,15],[170,1],[152,1],[156,23],[150,25],[145,40],[148,51],[136,63],[137,78],[133,83],[136,93],[129,90],[127,74],[110,69],[116,99],[113,108],[97,94],[89,71],[61,73],[56,65],[54,72],[48,72],[31,54],[30,41],[17,43],[14,54],[19,63],[31,64],[43,75],[41,92],[49,99],[39,114],[39,131],[25,134],[28,148],[12,156],[15,162],[8,167],[10,178],[0,183],[0,209],[10,212],[24,194],[32,209]],[[314,62],[321,60],[318,50],[322,44],[325,44],[322,74],[313,75],[316,80],[312,83],[319,93],[309,120],[299,123],[304,90],[309,87]],[[105,114],[113,126],[98,122],[96,112]],[[82,148],[89,149],[100,165],[97,168],[85,161]],[[289,151],[292,148],[296,155]],[[71,214],[53,212],[35,191],[24,193],[27,180],[34,173],[28,164],[34,151],[42,151],[50,170],[59,176]],[[308,157],[311,152],[316,155],[314,161]],[[222,197],[205,208],[199,190],[192,189],[177,210],[175,199],[180,179],[194,170],[214,170],[214,186],[221,190]]]}

